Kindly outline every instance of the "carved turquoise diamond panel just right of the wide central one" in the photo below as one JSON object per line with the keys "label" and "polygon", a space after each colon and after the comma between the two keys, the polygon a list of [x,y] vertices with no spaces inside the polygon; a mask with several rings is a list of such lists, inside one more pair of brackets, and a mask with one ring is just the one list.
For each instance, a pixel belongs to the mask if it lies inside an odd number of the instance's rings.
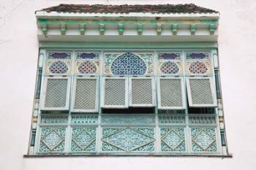
{"label": "carved turquoise diamond panel just right of the wide central one", "polygon": [[161,151],[186,152],[184,128],[161,128]]}

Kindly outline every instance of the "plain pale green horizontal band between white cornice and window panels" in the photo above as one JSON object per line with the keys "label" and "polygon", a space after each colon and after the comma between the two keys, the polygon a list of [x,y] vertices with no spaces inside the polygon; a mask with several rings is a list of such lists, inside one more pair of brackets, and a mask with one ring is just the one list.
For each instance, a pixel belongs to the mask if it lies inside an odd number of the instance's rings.
{"label": "plain pale green horizontal band between white cornice and window panels", "polygon": [[91,49],[217,49],[217,42],[39,42],[40,48],[91,48]]}

